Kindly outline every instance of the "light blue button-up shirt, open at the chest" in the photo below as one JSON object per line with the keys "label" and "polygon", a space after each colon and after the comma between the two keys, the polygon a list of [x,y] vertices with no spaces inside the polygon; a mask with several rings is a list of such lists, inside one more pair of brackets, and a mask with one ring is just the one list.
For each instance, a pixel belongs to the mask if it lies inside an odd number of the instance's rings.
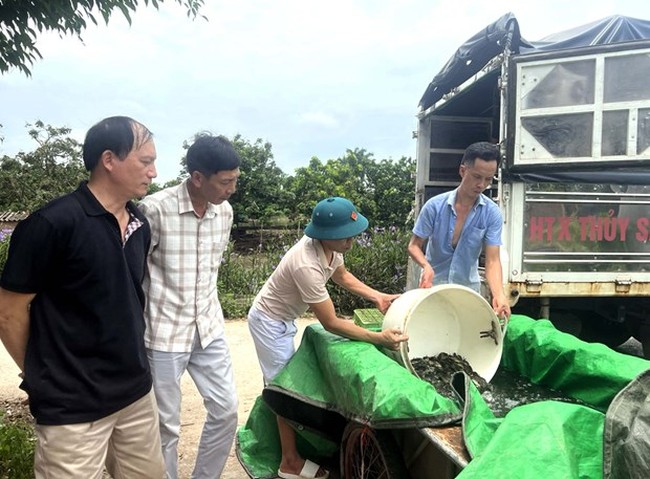
{"label": "light blue button-up shirt, open at the chest", "polygon": [[428,240],[426,257],[434,271],[434,285],[454,283],[479,291],[478,257],[483,245],[501,245],[503,217],[494,201],[479,196],[467,215],[456,247],[452,246],[458,217],[454,209],[457,192],[455,189],[429,199],[415,222],[413,234]]}

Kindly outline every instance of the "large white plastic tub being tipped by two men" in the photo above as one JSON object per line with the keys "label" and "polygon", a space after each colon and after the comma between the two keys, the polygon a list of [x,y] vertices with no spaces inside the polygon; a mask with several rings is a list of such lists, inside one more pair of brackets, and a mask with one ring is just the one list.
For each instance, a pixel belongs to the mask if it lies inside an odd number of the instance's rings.
{"label": "large white plastic tub being tipped by two men", "polygon": [[416,376],[411,360],[457,353],[490,381],[499,367],[503,334],[488,302],[474,290],[457,284],[412,289],[391,304],[382,329],[399,328],[409,335],[391,357]]}

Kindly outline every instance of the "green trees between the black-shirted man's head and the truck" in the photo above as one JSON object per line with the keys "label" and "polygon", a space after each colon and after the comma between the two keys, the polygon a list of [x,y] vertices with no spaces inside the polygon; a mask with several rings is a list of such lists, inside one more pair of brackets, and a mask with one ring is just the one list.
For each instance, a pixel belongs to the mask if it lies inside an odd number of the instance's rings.
{"label": "green trees between the black-shirted man's head and the truck", "polygon": [[[401,228],[413,222],[415,162],[411,158],[376,161],[372,153],[354,148],[326,163],[312,157],[308,166],[288,176],[275,164],[271,143],[259,138],[251,142],[239,134],[231,141],[242,160],[237,192],[230,201],[235,223],[305,225],[314,205],[328,196],[350,199],[372,226]],[[192,142],[185,141],[183,148],[187,150]],[[187,178],[185,157],[180,163],[178,177],[163,187]],[[154,183],[149,193],[160,189]]]}

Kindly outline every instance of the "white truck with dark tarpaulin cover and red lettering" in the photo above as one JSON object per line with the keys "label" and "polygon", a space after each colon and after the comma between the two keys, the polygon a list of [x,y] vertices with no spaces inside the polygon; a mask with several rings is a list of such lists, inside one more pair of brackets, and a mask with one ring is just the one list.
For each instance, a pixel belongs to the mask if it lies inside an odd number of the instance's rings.
{"label": "white truck with dark tarpaulin cover and red lettering", "polygon": [[467,145],[498,143],[487,194],[513,311],[610,346],[635,336],[650,356],[650,21],[527,42],[506,14],[433,78],[417,119],[416,214],[459,184]]}

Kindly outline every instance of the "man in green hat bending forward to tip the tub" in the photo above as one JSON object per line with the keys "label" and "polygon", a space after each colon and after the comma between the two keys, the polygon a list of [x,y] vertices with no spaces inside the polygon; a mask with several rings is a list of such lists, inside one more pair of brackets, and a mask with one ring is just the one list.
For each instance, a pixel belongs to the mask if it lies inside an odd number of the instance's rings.
{"label": "man in green hat bending forward to tip the tub", "polygon": [[[349,200],[334,197],[320,201],[305,228],[305,236],[284,255],[258,293],[248,313],[248,327],[265,384],[293,356],[294,320],[308,309],[327,331],[346,338],[392,349],[408,339],[399,329],[369,331],[336,316],[326,287],[330,278],[348,291],[372,301],[382,312],[398,297],[367,286],[345,269],[343,254],[352,247],[353,238],[366,228],[368,220]],[[280,416],[278,430],[282,447],[279,477],[323,479],[329,476],[328,471],[300,456],[295,432]]]}

